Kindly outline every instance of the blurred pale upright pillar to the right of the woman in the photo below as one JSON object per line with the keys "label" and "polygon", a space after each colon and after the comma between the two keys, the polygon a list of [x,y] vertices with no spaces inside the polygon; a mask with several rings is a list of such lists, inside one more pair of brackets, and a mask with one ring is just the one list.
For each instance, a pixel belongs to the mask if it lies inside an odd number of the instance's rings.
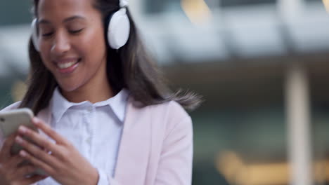
{"label": "blurred pale upright pillar to the right of the woman", "polygon": [[285,79],[290,184],[311,185],[309,80],[301,63],[292,63]]}

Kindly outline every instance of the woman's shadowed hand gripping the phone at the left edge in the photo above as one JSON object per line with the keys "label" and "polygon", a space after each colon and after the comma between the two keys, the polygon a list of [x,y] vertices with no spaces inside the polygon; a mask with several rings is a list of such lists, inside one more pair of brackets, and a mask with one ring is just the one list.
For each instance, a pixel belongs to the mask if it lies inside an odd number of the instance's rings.
{"label": "woman's shadowed hand gripping the phone at the left edge", "polygon": [[21,156],[11,155],[11,146],[17,133],[6,139],[0,151],[0,184],[1,185],[25,185],[45,179],[44,176],[34,175],[27,178],[28,174],[32,174],[37,167],[33,165],[20,165],[25,159]]}

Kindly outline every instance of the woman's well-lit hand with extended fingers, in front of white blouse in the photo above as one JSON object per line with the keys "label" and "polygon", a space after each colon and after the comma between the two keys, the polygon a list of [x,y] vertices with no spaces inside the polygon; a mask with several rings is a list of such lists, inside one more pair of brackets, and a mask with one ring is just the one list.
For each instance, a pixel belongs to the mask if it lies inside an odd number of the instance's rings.
{"label": "woman's well-lit hand with extended fingers, in front of white blouse", "polygon": [[[36,146],[20,136],[16,137],[15,141],[24,148],[20,151],[22,158],[40,167],[60,184],[97,184],[98,171],[67,139],[60,136],[38,118],[32,118],[32,123],[56,143],[50,142],[44,136],[29,128],[20,126],[18,129],[19,134],[28,137],[37,144]],[[41,148],[44,148],[44,150]],[[51,154],[47,151],[51,151]]]}

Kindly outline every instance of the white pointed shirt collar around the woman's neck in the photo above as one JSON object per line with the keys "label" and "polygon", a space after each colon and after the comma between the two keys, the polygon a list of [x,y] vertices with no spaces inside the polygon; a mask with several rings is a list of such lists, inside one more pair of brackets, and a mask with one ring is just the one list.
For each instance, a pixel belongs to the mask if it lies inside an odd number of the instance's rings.
{"label": "white pointed shirt collar around the woman's neck", "polygon": [[73,103],[69,102],[63,97],[62,94],[60,94],[59,88],[57,87],[53,93],[52,101],[51,101],[51,108],[52,108],[52,114],[55,118],[56,123],[60,121],[60,118],[65,114],[67,109],[70,109],[70,107],[74,106],[93,106],[93,107],[103,107],[103,106],[110,106],[112,111],[114,112],[115,116],[121,121],[121,123],[124,122],[124,116],[126,114],[126,106],[128,102],[129,92],[126,89],[120,90],[117,95],[114,97],[109,98],[108,100],[102,101],[102,102],[96,102],[94,104],[91,104],[89,101],[79,102],[79,103]]}

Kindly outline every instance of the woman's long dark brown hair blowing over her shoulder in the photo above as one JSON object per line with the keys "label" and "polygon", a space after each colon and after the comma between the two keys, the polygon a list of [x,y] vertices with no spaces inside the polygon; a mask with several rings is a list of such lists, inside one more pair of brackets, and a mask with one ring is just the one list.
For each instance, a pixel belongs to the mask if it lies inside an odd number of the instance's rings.
{"label": "woman's long dark brown hair blowing over her shoulder", "polygon": [[[94,0],[94,7],[103,16],[104,27],[112,13],[120,9],[118,0]],[[34,0],[34,14],[37,17],[39,0]],[[130,21],[130,35],[126,45],[119,50],[113,50],[107,44],[107,75],[114,93],[122,88],[129,90],[134,100],[142,106],[161,104],[176,101],[185,109],[195,109],[201,102],[198,95],[178,90],[172,93],[164,83],[162,74],[151,60],[146,48],[143,46],[134,20],[129,9],[127,15]],[[104,32],[105,33],[105,32]],[[106,38],[106,36],[105,36]],[[58,85],[53,74],[46,69],[32,41],[29,43],[30,74],[28,76],[28,89],[20,107],[30,107],[34,114],[39,113],[49,105],[53,90]]]}

